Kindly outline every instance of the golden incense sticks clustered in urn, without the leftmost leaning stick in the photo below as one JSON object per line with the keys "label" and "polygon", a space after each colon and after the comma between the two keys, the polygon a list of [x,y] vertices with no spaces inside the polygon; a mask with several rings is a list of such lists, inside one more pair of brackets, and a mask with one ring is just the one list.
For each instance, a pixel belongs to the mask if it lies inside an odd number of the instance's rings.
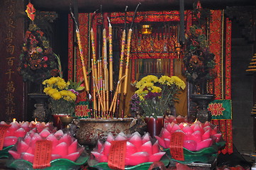
{"label": "golden incense sticks clustered in urn, without the leftmost leaning stick", "polygon": [[[93,101],[93,117],[94,118],[118,118],[118,114],[115,115],[119,105],[119,97],[121,94],[125,97],[127,94],[128,86],[128,69],[130,62],[130,39],[132,35],[132,29],[128,32],[127,44],[126,44],[126,30],[123,30],[122,44],[121,44],[121,56],[119,63],[119,75],[118,83],[116,85],[116,91],[113,91],[113,50],[112,50],[112,26],[109,22],[108,26],[108,38],[106,36],[106,29],[103,30],[103,47],[99,49],[102,51],[100,59],[96,59],[96,47],[94,42],[94,30],[91,28],[91,80],[93,88],[91,89],[92,101]],[[108,40],[108,43],[107,43]],[[108,47],[107,47],[108,46]],[[125,48],[127,48],[125,58]],[[108,49],[108,50],[107,50]],[[125,73],[123,74],[124,60],[126,60]],[[109,62],[109,63],[108,63]],[[122,81],[124,80],[124,84]],[[123,85],[123,86],[122,86]],[[113,94],[114,92],[114,94]],[[123,112],[121,118],[123,118]]]}

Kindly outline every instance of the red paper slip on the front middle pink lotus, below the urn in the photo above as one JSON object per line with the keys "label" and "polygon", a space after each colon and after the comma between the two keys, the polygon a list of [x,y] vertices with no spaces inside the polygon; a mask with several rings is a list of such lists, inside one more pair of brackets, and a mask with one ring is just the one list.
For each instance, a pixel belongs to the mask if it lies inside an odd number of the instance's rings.
{"label": "red paper slip on the front middle pink lotus, below the urn", "polygon": [[126,140],[112,141],[108,154],[108,167],[110,169],[125,169]]}

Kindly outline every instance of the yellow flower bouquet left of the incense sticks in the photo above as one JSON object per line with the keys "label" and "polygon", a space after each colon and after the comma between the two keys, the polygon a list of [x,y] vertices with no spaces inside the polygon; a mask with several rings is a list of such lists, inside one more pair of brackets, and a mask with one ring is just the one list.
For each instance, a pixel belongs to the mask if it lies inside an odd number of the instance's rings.
{"label": "yellow flower bouquet left of the incense sticks", "polygon": [[75,83],[73,81],[65,81],[61,77],[51,77],[42,83],[45,85],[43,92],[50,96],[49,108],[53,114],[74,113],[75,101],[78,91],[82,91],[84,86],[82,82]]}

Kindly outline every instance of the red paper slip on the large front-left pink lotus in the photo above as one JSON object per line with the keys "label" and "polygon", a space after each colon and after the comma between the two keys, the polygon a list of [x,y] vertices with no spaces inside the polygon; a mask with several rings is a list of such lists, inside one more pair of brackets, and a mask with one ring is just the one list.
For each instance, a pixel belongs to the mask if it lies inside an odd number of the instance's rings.
{"label": "red paper slip on the large front-left pink lotus", "polygon": [[33,169],[43,169],[50,166],[52,141],[38,140],[35,142],[35,157]]}

